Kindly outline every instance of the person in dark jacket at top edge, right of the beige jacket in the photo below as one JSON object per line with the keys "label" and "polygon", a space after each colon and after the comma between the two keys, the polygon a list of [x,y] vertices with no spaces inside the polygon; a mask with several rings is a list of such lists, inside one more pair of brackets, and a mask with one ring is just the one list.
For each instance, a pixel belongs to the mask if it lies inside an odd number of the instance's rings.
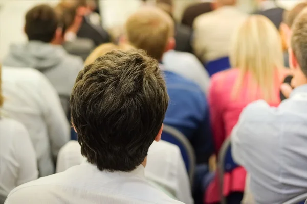
{"label": "person in dark jacket at top edge, right of the beige jacket", "polygon": [[269,18],[278,29],[282,22],[284,9],[277,6],[275,0],[256,0],[258,2],[258,12],[256,14]]}

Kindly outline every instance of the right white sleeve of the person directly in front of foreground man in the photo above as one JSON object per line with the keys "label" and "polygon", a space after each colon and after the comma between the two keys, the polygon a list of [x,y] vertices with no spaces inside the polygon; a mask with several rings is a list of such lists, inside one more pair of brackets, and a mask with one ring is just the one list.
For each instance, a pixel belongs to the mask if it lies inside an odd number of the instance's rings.
{"label": "right white sleeve of the person directly in front of foreground man", "polygon": [[181,156],[180,149],[177,151],[177,189],[176,197],[185,204],[193,204],[194,200],[192,197],[191,184],[186,170],[183,158]]}

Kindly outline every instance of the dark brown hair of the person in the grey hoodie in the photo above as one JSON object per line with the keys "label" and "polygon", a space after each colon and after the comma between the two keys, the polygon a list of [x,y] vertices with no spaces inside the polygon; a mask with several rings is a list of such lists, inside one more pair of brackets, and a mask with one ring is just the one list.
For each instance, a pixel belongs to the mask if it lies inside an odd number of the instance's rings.
{"label": "dark brown hair of the person in the grey hoodie", "polygon": [[29,40],[51,42],[58,27],[59,18],[47,4],[37,5],[26,14],[25,32]]}

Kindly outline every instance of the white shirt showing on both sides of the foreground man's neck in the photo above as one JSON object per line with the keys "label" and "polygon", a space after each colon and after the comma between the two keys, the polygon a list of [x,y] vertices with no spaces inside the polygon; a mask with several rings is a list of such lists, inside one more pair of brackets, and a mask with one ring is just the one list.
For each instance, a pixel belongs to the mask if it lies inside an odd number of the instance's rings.
{"label": "white shirt showing on both sides of the foreground man's neck", "polygon": [[[70,141],[64,145],[58,155],[56,172],[65,171],[84,162],[86,159],[82,157],[80,148],[77,141]],[[194,202],[184,161],[176,145],[162,140],[151,144],[145,177],[185,204]]]}

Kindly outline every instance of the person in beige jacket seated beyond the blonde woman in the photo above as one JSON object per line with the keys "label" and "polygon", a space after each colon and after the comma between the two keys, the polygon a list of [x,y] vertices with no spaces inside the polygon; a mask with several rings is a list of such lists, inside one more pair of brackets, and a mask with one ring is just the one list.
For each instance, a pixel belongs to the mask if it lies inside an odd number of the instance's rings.
{"label": "person in beige jacket seated beyond the blonde woman", "polygon": [[228,56],[231,36],[247,17],[237,9],[236,0],[215,1],[217,9],[198,16],[193,23],[193,50],[203,63]]}

